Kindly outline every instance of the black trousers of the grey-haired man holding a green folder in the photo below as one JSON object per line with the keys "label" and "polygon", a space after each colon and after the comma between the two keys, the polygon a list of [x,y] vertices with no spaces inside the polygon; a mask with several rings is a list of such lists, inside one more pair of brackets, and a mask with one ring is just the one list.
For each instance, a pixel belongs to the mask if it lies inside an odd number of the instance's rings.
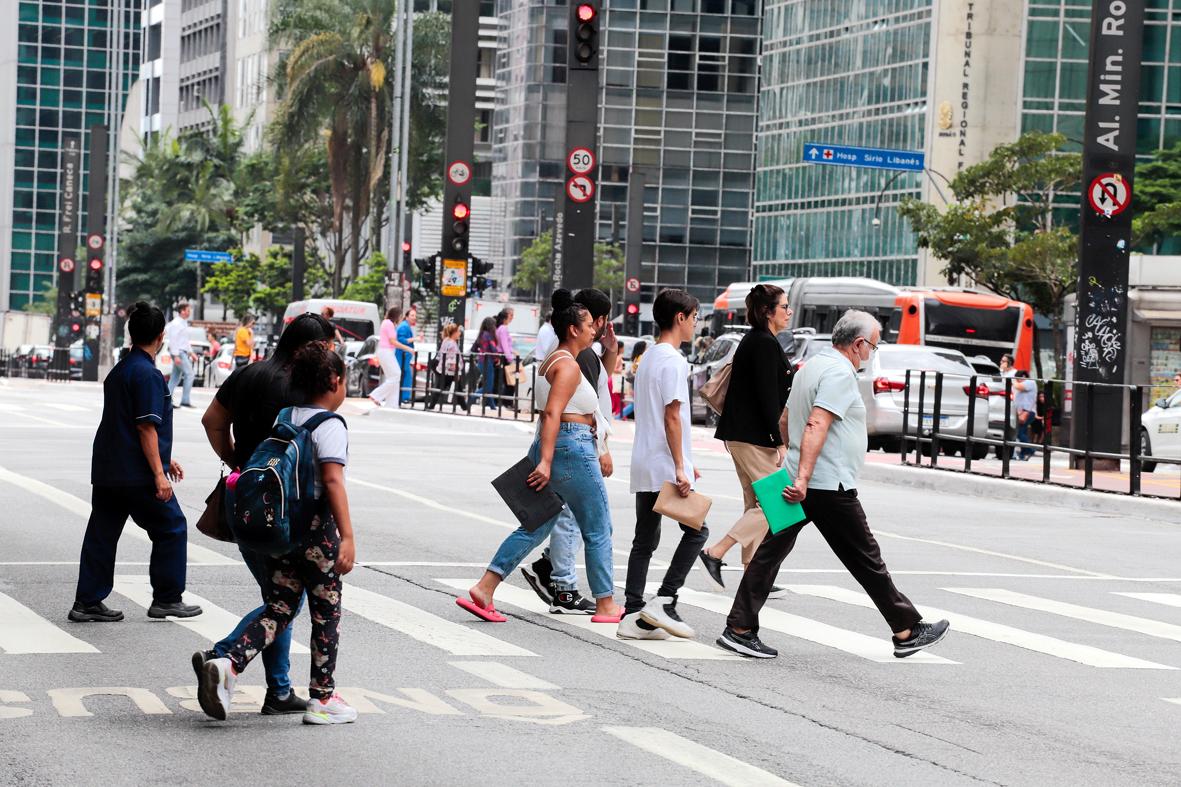
{"label": "black trousers of the grey-haired man holding a green folder", "polygon": [[894,586],[894,580],[882,562],[877,541],[869,531],[856,489],[809,489],[803,507],[808,519],[777,535],[768,531],[746,566],[726,618],[731,629],[758,631],[758,612],[766,603],[779,566],[795,547],[800,531],[808,522],[816,525],[833,553],[866,590],[877,611],[886,618],[890,631],[903,631],[922,619],[911,600]]}

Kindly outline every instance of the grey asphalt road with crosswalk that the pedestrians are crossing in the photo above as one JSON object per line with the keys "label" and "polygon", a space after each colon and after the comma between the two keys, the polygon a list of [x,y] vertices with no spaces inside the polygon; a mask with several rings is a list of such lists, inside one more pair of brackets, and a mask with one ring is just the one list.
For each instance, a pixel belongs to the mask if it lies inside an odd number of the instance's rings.
{"label": "grey asphalt road with crosswalk that the pedestrians are crossing", "polygon": [[[360,718],[312,728],[259,715],[256,663],[240,681],[242,713],[213,722],[191,701],[189,656],[257,603],[236,552],[191,529],[188,600],[207,612],[149,620],[148,544],[129,523],[109,599],[126,620],[68,623],[99,391],[0,381],[0,783],[1179,780],[1181,531],[1122,516],[1118,499],[1088,514],[1056,508],[1057,490],[1025,505],[864,483],[900,587],[952,633],[929,656],[894,659],[881,618],[809,531],[781,575],[794,592],[763,618],[779,658],[749,662],[713,646],[729,599],[699,571],[680,601],[696,643],[641,648],[614,626],[537,612],[520,577],[498,596],[509,623],[475,620],[452,599],[513,527],[488,482],[530,429],[363,406],[345,408],[360,562],[337,672]],[[723,450],[704,436],[698,447],[720,534],[738,484]],[[195,521],[217,474],[200,410],[177,412],[176,456]],[[632,500],[621,480],[608,490],[621,583]],[[307,637],[304,616],[295,642]],[[296,687],[307,668],[294,653]]]}

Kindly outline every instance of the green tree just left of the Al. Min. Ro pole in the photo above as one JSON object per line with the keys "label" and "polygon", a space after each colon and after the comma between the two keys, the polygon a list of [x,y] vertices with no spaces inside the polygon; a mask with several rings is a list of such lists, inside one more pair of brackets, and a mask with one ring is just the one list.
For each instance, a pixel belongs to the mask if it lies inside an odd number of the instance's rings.
{"label": "green tree just left of the Al. Min. Ro pole", "polygon": [[957,202],[945,210],[916,200],[899,207],[919,247],[945,261],[948,281],[967,279],[1050,319],[1059,377],[1062,312],[1078,282],[1078,239],[1055,225],[1052,207],[1056,196],[1077,193],[1082,178],[1082,158],[1058,152],[1065,142],[1059,134],[1024,134],[963,170],[951,184]]}

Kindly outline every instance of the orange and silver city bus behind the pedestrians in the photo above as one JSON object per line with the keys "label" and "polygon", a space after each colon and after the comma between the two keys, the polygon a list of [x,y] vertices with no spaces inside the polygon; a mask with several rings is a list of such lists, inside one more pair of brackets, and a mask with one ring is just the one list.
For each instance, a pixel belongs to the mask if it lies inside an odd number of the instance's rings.
{"label": "orange and silver city bus behind the pedestrians", "polygon": [[[715,300],[715,334],[746,321],[745,298],[757,281],[736,282]],[[895,287],[855,277],[778,279],[792,310],[790,327],[829,333],[849,308],[882,324],[882,339],[959,350],[993,362],[1013,356],[1017,369],[1033,363],[1033,310],[1029,304],[960,287]]]}

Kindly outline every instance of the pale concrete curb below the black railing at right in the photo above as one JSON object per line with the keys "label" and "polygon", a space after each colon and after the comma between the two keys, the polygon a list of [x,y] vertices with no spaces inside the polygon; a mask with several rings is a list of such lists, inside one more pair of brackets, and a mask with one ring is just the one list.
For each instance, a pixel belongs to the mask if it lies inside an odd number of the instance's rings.
{"label": "pale concrete curb below the black railing at right", "polygon": [[1181,525],[1181,506],[1172,500],[1131,497],[1105,492],[1048,487],[1032,481],[990,479],[954,470],[901,467],[866,462],[861,477],[913,489],[928,489],[950,494],[1012,500],[1014,502],[1072,508],[1096,514],[1133,516],[1170,525]]}

